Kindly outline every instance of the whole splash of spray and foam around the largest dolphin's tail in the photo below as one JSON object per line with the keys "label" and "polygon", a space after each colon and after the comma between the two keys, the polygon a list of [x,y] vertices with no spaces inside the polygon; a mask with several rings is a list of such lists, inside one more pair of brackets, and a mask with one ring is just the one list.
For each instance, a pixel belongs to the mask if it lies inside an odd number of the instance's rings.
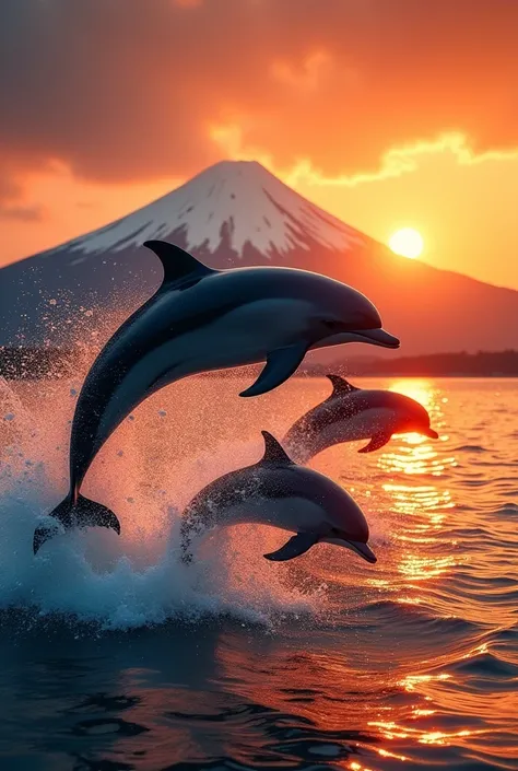
{"label": "whole splash of spray and foam around the largest dolphin's tail", "polygon": [[[56,388],[68,397],[59,413]],[[7,422],[16,431],[3,446],[0,471],[0,609],[31,608],[35,616],[59,614],[105,629],[192,621],[207,614],[272,627],[286,614],[322,611],[318,586],[311,592],[289,586],[290,571],[263,560],[272,540],[283,537],[270,528],[212,533],[195,564],[179,562],[183,507],[216,477],[257,460],[261,440],[225,443],[216,452],[184,446],[177,463],[168,464],[164,434],[170,435],[175,420],[167,424],[167,410],[156,404],[130,416],[85,486],[117,511],[121,537],[101,528],[69,531],[34,558],[35,525],[67,483],[67,433],[78,386],[23,384],[16,393],[3,383],[1,393],[7,414],[15,416]],[[31,407],[34,400],[39,409]],[[45,404],[52,406],[54,420]],[[162,432],[155,431],[157,422]]]}

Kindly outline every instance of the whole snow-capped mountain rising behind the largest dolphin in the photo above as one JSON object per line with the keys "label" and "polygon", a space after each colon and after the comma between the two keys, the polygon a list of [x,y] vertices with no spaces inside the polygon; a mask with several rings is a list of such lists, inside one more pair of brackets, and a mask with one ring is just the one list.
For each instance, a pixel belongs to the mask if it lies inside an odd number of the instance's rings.
{"label": "whole snow-capped mountain rising behind the largest dolphin", "polygon": [[518,292],[393,255],[242,161],[0,270],[0,344],[99,344],[161,281],[158,260],[141,247],[150,238],[211,267],[284,265],[344,281],[373,300],[407,355],[518,348]]}

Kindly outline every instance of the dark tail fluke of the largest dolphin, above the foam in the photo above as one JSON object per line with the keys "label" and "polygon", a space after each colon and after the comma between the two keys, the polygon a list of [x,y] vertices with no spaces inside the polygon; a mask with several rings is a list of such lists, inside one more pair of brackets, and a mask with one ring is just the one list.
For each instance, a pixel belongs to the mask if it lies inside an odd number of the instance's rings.
{"label": "dark tail fluke of the largest dolphin, above the foam", "polygon": [[[54,517],[66,530],[72,527],[108,527],[120,535],[120,523],[113,511],[90,498],[79,495],[75,504],[71,495],[61,501],[49,516]],[[59,533],[56,525],[39,525],[34,533],[33,550],[36,554],[45,541]]]}

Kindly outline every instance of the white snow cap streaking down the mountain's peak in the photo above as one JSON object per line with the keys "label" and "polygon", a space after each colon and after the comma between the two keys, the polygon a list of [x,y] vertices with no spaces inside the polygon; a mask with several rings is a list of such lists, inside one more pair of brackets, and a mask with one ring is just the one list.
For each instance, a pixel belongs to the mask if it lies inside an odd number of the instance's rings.
{"label": "white snow cap streaking down the mountain's peak", "polygon": [[315,242],[342,250],[367,241],[256,161],[221,161],[158,200],[61,248],[74,253],[74,264],[93,254],[121,252],[181,233],[187,249],[204,247],[212,253],[224,229],[239,257],[247,243],[270,256],[307,250]]}

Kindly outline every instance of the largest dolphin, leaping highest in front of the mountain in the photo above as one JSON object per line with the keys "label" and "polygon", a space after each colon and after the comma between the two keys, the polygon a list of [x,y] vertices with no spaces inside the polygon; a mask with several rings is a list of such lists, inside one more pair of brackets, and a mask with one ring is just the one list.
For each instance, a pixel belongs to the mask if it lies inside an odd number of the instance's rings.
{"label": "largest dolphin, leaping highest in front of the mountain", "polygon": [[[183,377],[266,361],[240,396],[284,383],[310,348],[363,341],[398,348],[376,307],[356,290],[293,268],[212,270],[163,241],[144,246],[160,258],[164,280],[115,332],[93,363],[75,406],[70,489],[50,513],[55,526],[34,535],[36,553],[57,524],[109,527],[117,516],[80,495],[94,457],[120,422],[149,396]],[[52,523],[54,524],[54,523]]]}

